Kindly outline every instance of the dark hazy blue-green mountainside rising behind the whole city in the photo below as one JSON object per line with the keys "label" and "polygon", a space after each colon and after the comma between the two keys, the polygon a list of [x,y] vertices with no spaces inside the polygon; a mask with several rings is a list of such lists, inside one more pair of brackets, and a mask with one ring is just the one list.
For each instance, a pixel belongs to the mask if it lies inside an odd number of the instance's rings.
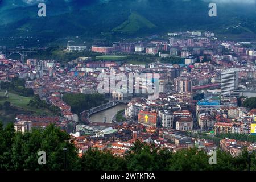
{"label": "dark hazy blue-green mountainside rising behind the whole city", "polygon": [[210,18],[209,2],[203,0],[45,0],[47,17],[39,18],[37,3],[28,2],[36,0],[0,0],[0,36],[143,36],[180,30],[256,35],[256,7],[246,3],[217,4],[217,17]]}

